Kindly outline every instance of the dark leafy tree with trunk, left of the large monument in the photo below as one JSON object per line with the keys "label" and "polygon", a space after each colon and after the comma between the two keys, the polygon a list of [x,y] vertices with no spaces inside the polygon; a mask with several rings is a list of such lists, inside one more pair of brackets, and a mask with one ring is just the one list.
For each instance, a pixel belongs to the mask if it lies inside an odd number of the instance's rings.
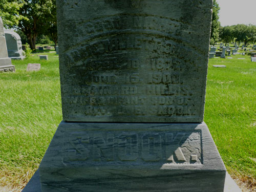
{"label": "dark leafy tree with trunk, left of the large monument", "polygon": [[[5,0],[6,1],[6,0]],[[49,20],[52,17],[52,0],[22,0],[24,3],[19,8],[18,14],[22,15],[17,25],[11,26],[24,32],[28,38],[29,46],[35,50],[36,37],[44,34],[49,28]],[[55,14],[56,15],[56,14]]]}

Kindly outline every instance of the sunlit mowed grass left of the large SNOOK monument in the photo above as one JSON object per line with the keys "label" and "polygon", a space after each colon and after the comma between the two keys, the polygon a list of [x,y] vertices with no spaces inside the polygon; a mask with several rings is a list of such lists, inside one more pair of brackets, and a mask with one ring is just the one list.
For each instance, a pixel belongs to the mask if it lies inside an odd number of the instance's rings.
{"label": "sunlit mowed grass left of the large SNOOK monument", "polygon": [[[0,74],[0,186],[20,191],[34,171],[62,119],[58,57],[32,54],[12,60],[15,73]],[[41,70],[27,72],[28,63]],[[1,189],[0,189],[1,191]]]}

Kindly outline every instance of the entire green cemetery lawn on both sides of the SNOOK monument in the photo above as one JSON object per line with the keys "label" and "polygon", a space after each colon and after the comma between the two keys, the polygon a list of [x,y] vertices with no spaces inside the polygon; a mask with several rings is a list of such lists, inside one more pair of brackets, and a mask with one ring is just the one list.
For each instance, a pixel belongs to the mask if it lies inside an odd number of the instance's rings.
{"label": "entire green cemetery lawn on both sides of the SNOOK monument", "polygon": [[[12,60],[15,73],[0,73],[0,191],[20,191],[26,185],[62,119],[58,57],[44,54],[48,61],[32,54],[23,61]],[[209,60],[204,121],[228,172],[253,191],[256,62],[249,56],[231,57]],[[41,63],[41,70],[26,72],[28,63]]]}

